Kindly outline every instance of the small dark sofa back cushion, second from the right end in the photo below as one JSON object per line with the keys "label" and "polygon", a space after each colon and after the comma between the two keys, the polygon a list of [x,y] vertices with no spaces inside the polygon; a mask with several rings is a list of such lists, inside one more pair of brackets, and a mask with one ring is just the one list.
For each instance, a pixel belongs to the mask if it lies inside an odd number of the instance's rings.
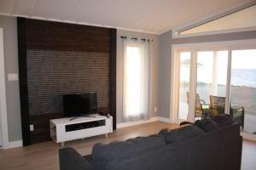
{"label": "small dark sofa back cushion, second from the right end", "polygon": [[201,128],[205,132],[210,132],[218,128],[217,122],[212,121],[211,118],[195,121],[195,126]]}

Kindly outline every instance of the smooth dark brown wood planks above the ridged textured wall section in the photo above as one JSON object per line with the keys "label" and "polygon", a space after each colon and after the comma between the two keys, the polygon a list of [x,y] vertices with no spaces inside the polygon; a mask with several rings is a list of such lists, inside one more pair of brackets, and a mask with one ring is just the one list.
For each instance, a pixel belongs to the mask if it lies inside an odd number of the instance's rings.
{"label": "smooth dark brown wood planks above the ridged textured wall section", "polygon": [[26,20],[28,49],[109,53],[110,29],[44,20]]}

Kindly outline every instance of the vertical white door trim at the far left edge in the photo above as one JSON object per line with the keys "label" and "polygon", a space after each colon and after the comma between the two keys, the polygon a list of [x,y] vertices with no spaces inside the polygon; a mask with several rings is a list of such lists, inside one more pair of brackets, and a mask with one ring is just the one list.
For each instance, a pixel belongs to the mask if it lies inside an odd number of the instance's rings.
{"label": "vertical white door trim at the far left edge", "polygon": [[6,91],[5,91],[5,71],[4,71],[4,55],[3,55],[3,28],[0,28],[0,121],[2,129],[3,149],[9,145],[7,108],[6,108]]}

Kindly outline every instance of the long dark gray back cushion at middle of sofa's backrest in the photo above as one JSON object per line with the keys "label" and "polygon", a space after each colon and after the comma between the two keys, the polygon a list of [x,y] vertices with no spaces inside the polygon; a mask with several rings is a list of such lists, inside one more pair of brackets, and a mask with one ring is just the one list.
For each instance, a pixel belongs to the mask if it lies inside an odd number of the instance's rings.
{"label": "long dark gray back cushion at middle of sofa's backrest", "polygon": [[204,133],[204,131],[202,131],[195,125],[188,124],[177,127],[175,129],[163,129],[160,131],[159,134],[164,136],[166,144],[172,144],[178,141],[198,136],[201,133]]}

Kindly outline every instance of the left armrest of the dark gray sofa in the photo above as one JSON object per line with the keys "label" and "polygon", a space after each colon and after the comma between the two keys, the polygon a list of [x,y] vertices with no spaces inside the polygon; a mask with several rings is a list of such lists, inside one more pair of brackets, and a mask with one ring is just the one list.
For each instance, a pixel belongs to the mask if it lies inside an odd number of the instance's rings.
{"label": "left armrest of the dark gray sofa", "polygon": [[92,167],[77,150],[63,148],[59,150],[60,170],[92,170]]}

